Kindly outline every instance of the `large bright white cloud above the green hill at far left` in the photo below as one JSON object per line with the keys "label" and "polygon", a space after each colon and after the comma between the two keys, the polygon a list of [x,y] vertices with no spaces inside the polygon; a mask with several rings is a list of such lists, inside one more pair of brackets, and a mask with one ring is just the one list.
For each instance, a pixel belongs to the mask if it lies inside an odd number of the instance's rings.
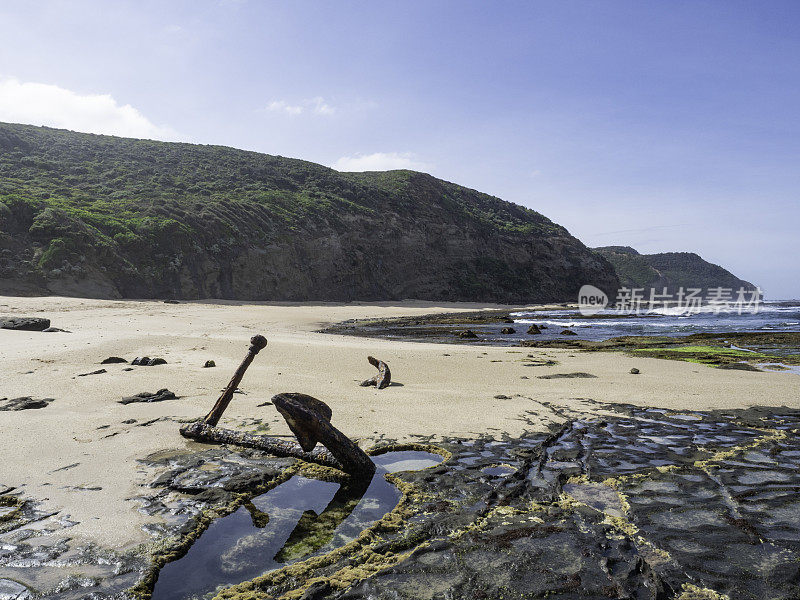
{"label": "large bright white cloud above the green hill at far left", "polygon": [[0,79],[0,121],[156,140],[179,137],[130,104],[118,104],[109,94],[82,95],[57,85],[13,78]]}

